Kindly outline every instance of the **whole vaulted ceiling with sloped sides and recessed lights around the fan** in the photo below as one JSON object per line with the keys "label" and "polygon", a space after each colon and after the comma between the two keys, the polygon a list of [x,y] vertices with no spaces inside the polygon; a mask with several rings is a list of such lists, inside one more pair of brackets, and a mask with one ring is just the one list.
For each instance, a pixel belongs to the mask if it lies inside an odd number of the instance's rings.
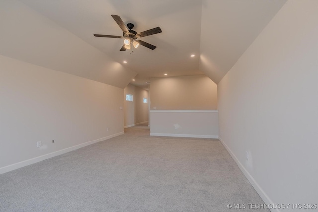
{"label": "whole vaulted ceiling with sloped sides and recessed lights around the fan", "polygon": [[[125,87],[152,77],[205,74],[218,83],[282,7],[282,0],[0,1],[2,55]],[[119,51],[119,15],[157,46]],[[195,57],[190,57],[194,54]],[[127,63],[123,63],[127,61]],[[131,81],[135,79],[135,81]]]}

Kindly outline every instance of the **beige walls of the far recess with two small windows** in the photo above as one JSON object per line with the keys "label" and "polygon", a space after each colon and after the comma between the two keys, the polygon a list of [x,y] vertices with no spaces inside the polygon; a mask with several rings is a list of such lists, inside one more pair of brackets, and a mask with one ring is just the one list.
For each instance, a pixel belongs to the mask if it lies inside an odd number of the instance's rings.
{"label": "beige walls of the far recess with two small windows", "polygon": [[[126,94],[133,95],[133,102],[126,101]],[[148,122],[148,91],[140,87],[128,84],[124,89],[124,127],[131,127],[135,124]]]}

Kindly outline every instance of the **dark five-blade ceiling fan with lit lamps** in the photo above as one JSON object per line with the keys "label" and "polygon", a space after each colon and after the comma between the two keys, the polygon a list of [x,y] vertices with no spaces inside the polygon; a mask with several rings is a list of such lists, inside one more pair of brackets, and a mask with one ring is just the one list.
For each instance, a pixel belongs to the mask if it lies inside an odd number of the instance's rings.
{"label": "dark five-blade ceiling fan with lit lamps", "polygon": [[122,19],[118,15],[111,15],[111,16],[114,18],[114,20],[119,25],[121,30],[123,30],[123,36],[94,34],[95,37],[125,38],[124,45],[121,47],[120,51],[126,51],[126,49],[130,49],[131,44],[135,48],[137,48],[139,45],[142,45],[142,46],[145,46],[151,50],[156,49],[156,46],[151,45],[150,43],[147,43],[147,42],[142,41],[142,40],[137,40],[137,39],[162,32],[160,27],[156,27],[153,29],[149,29],[149,30],[137,33],[136,31],[133,30],[134,24],[128,23],[127,24],[128,29],[127,29],[124,22],[122,21]]}

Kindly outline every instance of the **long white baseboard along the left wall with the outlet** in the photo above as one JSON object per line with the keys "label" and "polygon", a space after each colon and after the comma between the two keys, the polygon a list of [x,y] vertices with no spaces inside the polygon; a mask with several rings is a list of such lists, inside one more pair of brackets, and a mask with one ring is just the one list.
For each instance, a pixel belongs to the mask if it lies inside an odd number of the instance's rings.
{"label": "long white baseboard along the left wall with the outlet", "polygon": [[110,139],[110,138],[113,138],[113,137],[116,137],[116,136],[119,136],[119,135],[122,135],[122,134],[124,134],[124,131],[116,133],[116,134],[113,134],[113,135],[110,135],[110,136],[106,136],[106,137],[103,137],[103,138],[100,138],[100,139],[96,139],[96,140],[93,140],[93,141],[88,141],[88,142],[85,142],[85,143],[81,143],[81,144],[76,145],[76,146],[72,146],[72,147],[69,147],[69,148],[61,149],[59,151],[55,151],[55,152],[52,152],[52,153],[49,153],[49,154],[45,154],[45,155],[41,155],[41,156],[38,156],[38,157],[34,157],[32,159],[28,159],[28,160],[24,160],[24,161],[21,161],[21,162],[18,162],[18,163],[14,163],[12,165],[4,166],[4,167],[0,168],[0,174],[6,173],[6,172],[9,172],[9,171],[13,171],[15,169],[22,168],[24,166],[28,166],[28,165],[31,165],[33,163],[37,163],[37,162],[40,162],[42,160],[46,160],[46,159],[49,159],[51,157],[55,157],[55,156],[58,156],[58,155],[61,155],[61,154],[64,154],[64,153],[67,153],[67,152],[70,152],[70,151],[73,151],[73,150],[76,150],[76,149],[79,149],[79,148],[82,148],[82,147],[85,147],[85,146],[88,146],[88,145],[91,145],[91,144],[94,144],[94,143],[97,143],[97,142],[100,142],[100,141],[105,141],[107,139]]}

